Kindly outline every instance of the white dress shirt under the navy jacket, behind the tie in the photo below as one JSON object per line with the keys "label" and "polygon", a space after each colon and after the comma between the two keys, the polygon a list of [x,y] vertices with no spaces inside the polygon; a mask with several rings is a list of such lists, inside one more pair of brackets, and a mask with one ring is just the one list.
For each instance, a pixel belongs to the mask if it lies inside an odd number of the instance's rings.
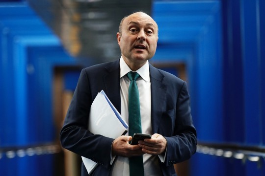
{"label": "white dress shirt under the navy jacket, behind the tie", "polygon": [[[121,115],[124,120],[129,123],[129,113],[128,113],[128,89],[130,85],[130,80],[126,76],[128,72],[132,71],[131,68],[125,63],[123,58],[120,59],[120,88],[121,88]],[[151,125],[151,82],[149,73],[149,63],[148,61],[144,66],[136,70],[140,75],[137,79],[136,84],[139,90],[140,99],[140,113],[141,113],[141,123],[142,123],[142,133],[153,134]],[[130,126],[129,126],[130,131]],[[128,133],[126,134],[128,135]],[[163,162],[164,157],[160,157]],[[145,176],[161,176],[161,171],[159,167],[158,157],[156,155],[144,154],[144,175]],[[117,156],[112,167],[112,176],[129,176],[129,158]]]}

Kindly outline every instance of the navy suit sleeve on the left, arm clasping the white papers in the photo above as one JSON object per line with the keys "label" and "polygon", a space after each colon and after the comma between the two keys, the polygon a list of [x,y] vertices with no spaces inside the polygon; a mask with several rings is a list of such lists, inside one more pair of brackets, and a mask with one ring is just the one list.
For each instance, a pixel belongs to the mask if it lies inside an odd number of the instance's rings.
{"label": "navy suit sleeve on the left, arm clasping the white papers", "polygon": [[[93,102],[87,73],[82,69],[71,104],[60,132],[61,144],[76,154],[110,167],[111,145],[114,139],[88,131],[89,110]],[[95,92],[96,93],[96,92]],[[95,94],[94,93],[94,94]]]}

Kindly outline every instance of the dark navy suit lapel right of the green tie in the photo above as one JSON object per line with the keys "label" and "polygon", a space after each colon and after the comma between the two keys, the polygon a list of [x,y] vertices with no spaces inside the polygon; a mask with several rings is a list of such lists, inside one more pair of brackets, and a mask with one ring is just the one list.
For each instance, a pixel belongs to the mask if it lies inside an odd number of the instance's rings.
{"label": "dark navy suit lapel right of the green tie", "polygon": [[164,75],[155,67],[149,65],[151,78],[151,123],[153,133],[157,133],[159,122],[162,117],[165,105],[167,84],[162,80]]}

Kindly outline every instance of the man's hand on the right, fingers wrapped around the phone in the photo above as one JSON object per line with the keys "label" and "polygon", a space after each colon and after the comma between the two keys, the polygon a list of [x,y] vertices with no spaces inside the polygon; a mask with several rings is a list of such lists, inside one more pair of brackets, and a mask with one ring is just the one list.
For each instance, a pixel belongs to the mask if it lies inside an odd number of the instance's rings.
{"label": "man's hand on the right, fingers wrapped around the phone", "polygon": [[146,154],[162,154],[166,149],[166,145],[166,139],[158,133],[153,134],[151,139],[144,139],[139,141],[139,147],[141,147],[142,152]]}

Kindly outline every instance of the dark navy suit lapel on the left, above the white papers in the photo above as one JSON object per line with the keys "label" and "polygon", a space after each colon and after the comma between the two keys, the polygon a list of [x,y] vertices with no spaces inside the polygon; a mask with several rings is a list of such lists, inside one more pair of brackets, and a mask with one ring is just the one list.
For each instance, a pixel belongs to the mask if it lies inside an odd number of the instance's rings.
{"label": "dark navy suit lapel on the left, above the white papers", "polygon": [[119,60],[111,62],[106,68],[104,82],[106,87],[106,95],[121,113],[121,94],[120,94],[120,65]]}

